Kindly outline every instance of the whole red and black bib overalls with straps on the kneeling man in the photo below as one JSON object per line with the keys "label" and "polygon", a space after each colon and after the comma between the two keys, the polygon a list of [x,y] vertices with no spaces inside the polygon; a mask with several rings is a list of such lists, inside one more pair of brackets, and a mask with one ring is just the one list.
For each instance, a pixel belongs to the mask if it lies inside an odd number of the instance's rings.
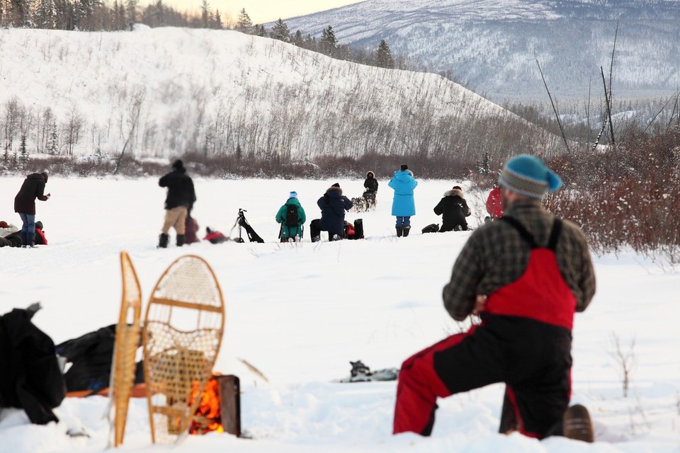
{"label": "whole red and black bib overalls with straps on the kneeling man", "polygon": [[531,245],[523,275],[489,294],[482,324],[409,357],[399,372],[394,432],[430,435],[436,399],[504,382],[500,431],[543,438],[561,432],[569,404],[576,301],[555,259],[560,222],[547,248]]}

